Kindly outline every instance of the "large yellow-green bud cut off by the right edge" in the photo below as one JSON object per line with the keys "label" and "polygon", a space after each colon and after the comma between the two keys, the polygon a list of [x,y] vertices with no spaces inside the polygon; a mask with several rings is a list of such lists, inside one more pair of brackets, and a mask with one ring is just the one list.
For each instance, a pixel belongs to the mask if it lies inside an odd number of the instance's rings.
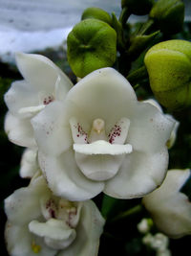
{"label": "large yellow-green bud cut off by the right edge", "polygon": [[144,62],[161,105],[178,110],[191,105],[191,42],[160,42],[146,53]]}

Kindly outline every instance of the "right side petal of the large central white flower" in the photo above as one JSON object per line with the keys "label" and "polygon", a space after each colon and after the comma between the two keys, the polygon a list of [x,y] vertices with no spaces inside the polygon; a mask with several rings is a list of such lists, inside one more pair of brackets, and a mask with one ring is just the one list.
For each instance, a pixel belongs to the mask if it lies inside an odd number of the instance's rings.
{"label": "right side petal of the large central white flower", "polygon": [[129,117],[131,125],[127,141],[134,151],[158,152],[170,138],[175,122],[168,119],[159,109],[148,103],[135,105]]}

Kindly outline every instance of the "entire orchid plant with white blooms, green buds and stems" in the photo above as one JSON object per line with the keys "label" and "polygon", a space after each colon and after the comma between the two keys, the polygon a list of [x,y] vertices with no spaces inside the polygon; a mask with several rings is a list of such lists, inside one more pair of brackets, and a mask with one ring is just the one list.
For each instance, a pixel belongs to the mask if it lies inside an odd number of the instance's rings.
{"label": "entire orchid plant with white blooms, green buds and stems", "polygon": [[180,0],[122,0],[118,18],[88,8],[67,68],[15,53],[2,145],[9,255],[180,255],[191,234],[183,12]]}

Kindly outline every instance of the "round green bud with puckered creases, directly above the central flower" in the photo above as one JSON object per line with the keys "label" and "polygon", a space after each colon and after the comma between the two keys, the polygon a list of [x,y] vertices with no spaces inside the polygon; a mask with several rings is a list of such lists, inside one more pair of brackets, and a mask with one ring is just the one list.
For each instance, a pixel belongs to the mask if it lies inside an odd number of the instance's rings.
{"label": "round green bud with puckered creases, directly above the central flower", "polygon": [[117,58],[117,33],[107,23],[85,19],[67,38],[68,61],[74,74],[83,78],[92,71],[112,66]]}

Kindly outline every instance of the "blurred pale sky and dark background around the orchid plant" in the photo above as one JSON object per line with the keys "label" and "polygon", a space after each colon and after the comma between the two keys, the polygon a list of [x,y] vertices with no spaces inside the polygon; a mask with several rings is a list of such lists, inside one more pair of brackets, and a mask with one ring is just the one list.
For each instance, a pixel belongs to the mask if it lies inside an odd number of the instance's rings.
{"label": "blurred pale sky and dark background around the orchid plant", "polygon": [[[191,40],[191,1],[185,0],[184,3],[185,24],[182,32],[174,38]],[[21,179],[18,175],[24,149],[11,144],[4,132],[7,107],[3,95],[12,81],[22,79],[14,65],[14,53],[39,53],[47,56],[75,81],[67,62],[65,42],[74,24],[80,20],[83,10],[93,6],[109,13],[116,12],[117,16],[120,12],[120,0],[0,0],[0,253],[2,256],[8,255],[4,243],[6,222],[4,198],[10,196],[15,189],[29,184],[29,180]],[[135,24],[145,19],[146,16],[133,15],[130,22]],[[140,99],[146,99],[149,94],[149,89],[138,91]],[[191,109],[187,108],[173,114],[181,125],[177,142],[170,150],[169,168],[191,168]],[[96,203],[100,207],[99,198]],[[145,252],[145,248],[140,243],[141,237],[137,230],[137,223],[140,220],[138,216],[136,218],[132,220],[132,227],[125,226],[124,223],[123,235],[127,241],[125,249],[117,253],[120,244],[117,241],[116,244],[110,244],[111,240],[104,237],[100,244],[100,256],[155,255],[154,252]],[[171,240],[172,255],[190,255],[189,242],[190,237]],[[182,251],[185,251],[184,254]]]}

